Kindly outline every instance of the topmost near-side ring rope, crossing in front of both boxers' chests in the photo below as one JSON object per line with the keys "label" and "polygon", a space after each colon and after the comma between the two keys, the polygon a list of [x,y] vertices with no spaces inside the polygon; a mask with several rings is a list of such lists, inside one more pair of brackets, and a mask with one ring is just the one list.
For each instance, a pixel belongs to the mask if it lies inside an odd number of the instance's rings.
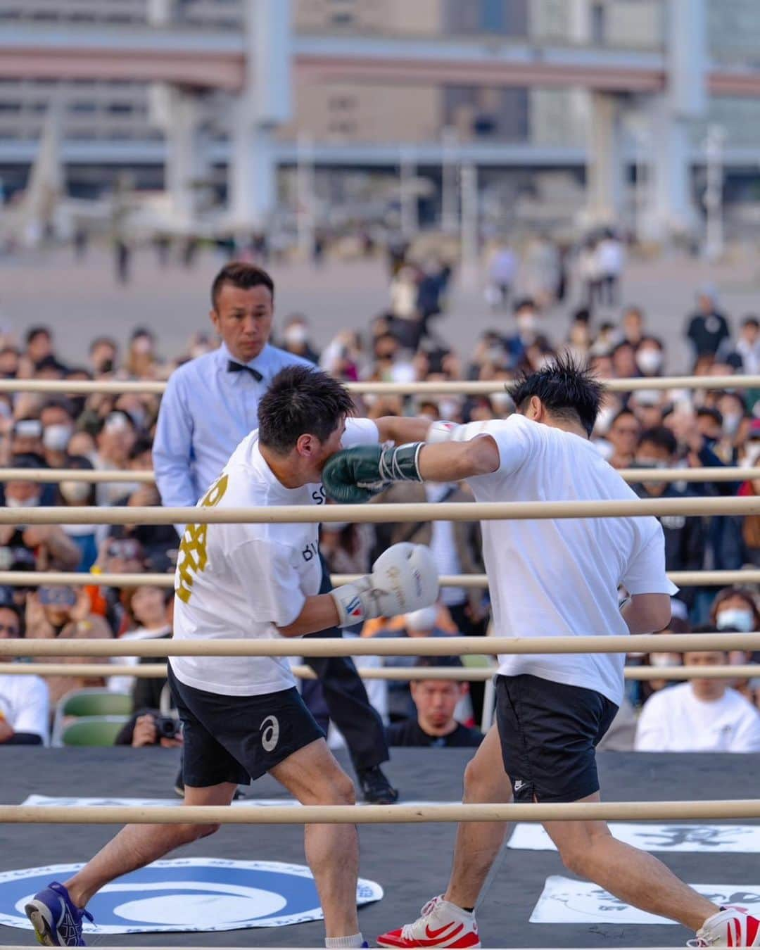
{"label": "topmost near-side ring rope, crossing in front of both boxers' chests", "polygon": [[[23,513],[22,513],[23,512]],[[432,504],[283,504],[249,508],[0,508],[0,524],[294,524],[327,522],[476,522],[646,515],[760,515],[760,496],[655,498],[603,502],[443,502]]]}

